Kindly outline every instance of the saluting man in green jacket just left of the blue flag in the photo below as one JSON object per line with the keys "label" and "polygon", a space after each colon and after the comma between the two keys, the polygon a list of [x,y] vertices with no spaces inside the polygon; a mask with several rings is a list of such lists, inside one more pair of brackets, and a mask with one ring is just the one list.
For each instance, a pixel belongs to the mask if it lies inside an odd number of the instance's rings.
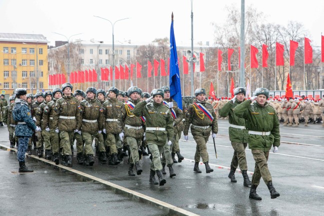
{"label": "saluting man in green jacket just left of the blue flag", "polygon": [[[137,103],[133,109],[134,115],[145,117],[145,137],[152,154],[149,182],[157,184],[154,177],[156,173],[160,186],[166,183],[161,172],[160,156],[165,142],[167,141],[167,144],[171,145],[173,141],[173,119],[169,108],[163,105],[163,96],[164,91],[162,89],[154,89],[151,97]],[[153,101],[151,102],[152,98]]]}

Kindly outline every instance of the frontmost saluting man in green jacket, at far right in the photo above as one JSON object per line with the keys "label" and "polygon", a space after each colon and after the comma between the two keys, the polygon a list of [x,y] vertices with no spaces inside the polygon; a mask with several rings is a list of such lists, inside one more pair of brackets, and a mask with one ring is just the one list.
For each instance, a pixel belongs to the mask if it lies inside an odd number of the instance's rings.
{"label": "frontmost saluting man in green jacket, at far right", "polygon": [[[273,152],[276,152],[280,145],[279,120],[274,108],[266,102],[268,97],[268,89],[256,88],[255,96],[234,108],[234,114],[245,119],[245,127],[248,130],[248,147],[255,160],[249,192],[249,198],[253,199],[261,199],[256,193],[256,187],[260,183],[261,177],[270,191],[271,198],[280,195],[272,185],[271,174],[267,167],[271,146],[273,145]],[[253,102],[254,99],[255,102]]]}

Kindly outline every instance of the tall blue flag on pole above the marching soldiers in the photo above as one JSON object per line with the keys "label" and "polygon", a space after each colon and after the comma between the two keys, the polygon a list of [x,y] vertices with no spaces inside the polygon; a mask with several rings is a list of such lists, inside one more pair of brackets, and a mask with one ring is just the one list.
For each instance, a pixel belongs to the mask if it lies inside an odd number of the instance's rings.
{"label": "tall blue flag on pole above the marching soldiers", "polygon": [[170,96],[175,100],[178,107],[182,110],[181,81],[176,54],[175,37],[173,30],[173,13],[170,28]]}

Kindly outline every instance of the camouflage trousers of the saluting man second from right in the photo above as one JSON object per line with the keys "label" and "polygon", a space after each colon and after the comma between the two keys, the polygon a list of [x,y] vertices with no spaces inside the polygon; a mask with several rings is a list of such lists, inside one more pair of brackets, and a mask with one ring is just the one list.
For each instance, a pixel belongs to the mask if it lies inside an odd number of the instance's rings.
{"label": "camouflage trousers of the saluting man second from right", "polygon": [[236,169],[239,166],[240,170],[247,170],[245,148],[247,143],[243,142],[231,142],[234,148],[234,154],[230,163],[230,168]]}

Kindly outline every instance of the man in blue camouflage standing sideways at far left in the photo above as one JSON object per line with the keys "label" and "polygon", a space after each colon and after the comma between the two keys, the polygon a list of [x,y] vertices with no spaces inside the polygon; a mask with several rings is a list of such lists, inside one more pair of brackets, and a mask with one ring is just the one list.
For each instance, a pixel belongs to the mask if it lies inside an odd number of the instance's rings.
{"label": "man in blue camouflage standing sideways at far left", "polygon": [[12,117],[15,121],[18,122],[14,132],[19,139],[17,151],[17,159],[19,161],[19,172],[33,172],[32,169],[26,167],[24,160],[24,155],[27,151],[29,137],[32,135],[33,130],[36,128],[36,125],[30,115],[28,103],[26,102],[26,93],[26,89],[16,88],[16,99],[14,101],[15,105],[12,109]]}

